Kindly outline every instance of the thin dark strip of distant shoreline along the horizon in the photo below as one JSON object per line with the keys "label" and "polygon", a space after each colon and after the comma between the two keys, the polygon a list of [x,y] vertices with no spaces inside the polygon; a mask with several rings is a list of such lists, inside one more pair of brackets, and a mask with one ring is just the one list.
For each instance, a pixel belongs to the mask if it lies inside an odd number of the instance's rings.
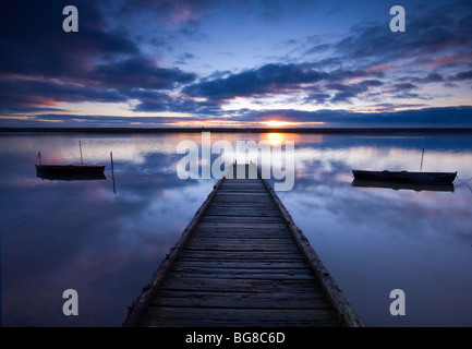
{"label": "thin dark strip of distant shoreline along the horizon", "polygon": [[472,128],[0,128],[0,133],[472,133]]}

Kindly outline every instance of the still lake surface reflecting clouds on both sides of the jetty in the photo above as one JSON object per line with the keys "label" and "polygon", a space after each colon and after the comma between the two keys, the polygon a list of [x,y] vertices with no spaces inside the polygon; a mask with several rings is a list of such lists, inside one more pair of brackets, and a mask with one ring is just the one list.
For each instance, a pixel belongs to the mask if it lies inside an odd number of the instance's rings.
{"label": "still lake surface reflecting clouds on both sides of the jetty", "polygon": [[[178,144],[201,139],[0,134],[1,325],[121,326],[217,181],[177,174]],[[277,194],[366,326],[472,326],[471,134],[218,140],[294,142],[294,186]],[[107,179],[36,177],[38,152],[43,164],[80,165],[80,141],[84,164],[107,165]],[[423,148],[424,171],[458,171],[452,191],[352,185],[353,168],[419,170]],[[78,293],[77,316],[62,313],[66,289]],[[394,289],[404,291],[403,316],[389,312]]]}

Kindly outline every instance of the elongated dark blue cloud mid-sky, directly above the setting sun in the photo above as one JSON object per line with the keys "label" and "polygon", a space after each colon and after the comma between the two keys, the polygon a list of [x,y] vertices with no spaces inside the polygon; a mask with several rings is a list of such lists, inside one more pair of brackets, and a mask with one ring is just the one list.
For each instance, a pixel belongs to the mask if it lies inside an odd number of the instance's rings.
{"label": "elongated dark blue cloud mid-sky, directly above the setting sun", "polygon": [[245,70],[219,77],[214,75],[203,82],[182,89],[190,97],[202,97],[223,104],[235,97],[261,97],[304,92],[306,100],[326,100],[329,89],[338,91],[334,103],[348,101],[366,92],[370,87],[382,86],[378,80],[364,80],[355,84],[342,85],[352,79],[382,77],[382,71],[341,70],[325,71],[318,63],[265,64],[258,69]]}

